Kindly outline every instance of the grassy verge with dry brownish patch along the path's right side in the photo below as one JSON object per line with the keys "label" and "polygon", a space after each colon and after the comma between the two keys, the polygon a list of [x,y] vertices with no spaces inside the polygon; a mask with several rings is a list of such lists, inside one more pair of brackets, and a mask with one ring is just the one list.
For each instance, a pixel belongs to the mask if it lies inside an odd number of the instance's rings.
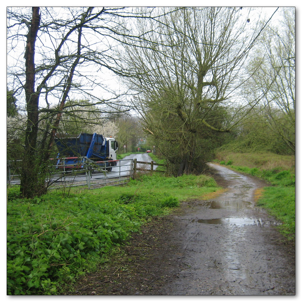
{"label": "grassy verge with dry brownish patch along the path's right side", "polygon": [[[227,156],[231,160],[227,161]],[[280,232],[288,239],[295,237],[295,173],[294,156],[281,156],[272,153],[219,153],[221,165],[252,176],[257,176],[271,184],[263,188],[262,196],[257,205],[264,207],[268,213],[282,222]],[[249,166],[232,165],[232,162],[246,163]],[[224,159],[224,160],[220,160]],[[279,166],[278,166],[279,165]],[[270,169],[264,169],[270,167]]]}

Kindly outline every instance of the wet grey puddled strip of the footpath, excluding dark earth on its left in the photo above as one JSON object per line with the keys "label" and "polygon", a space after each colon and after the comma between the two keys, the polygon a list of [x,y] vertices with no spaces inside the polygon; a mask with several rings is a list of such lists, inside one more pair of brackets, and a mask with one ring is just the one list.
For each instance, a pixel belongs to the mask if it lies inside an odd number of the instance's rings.
{"label": "wet grey puddled strip of the footpath, excluding dark earth on its left", "polygon": [[[257,180],[210,164],[227,190],[210,200],[189,201],[173,223],[171,260],[177,279],[162,294],[292,295],[295,255],[287,250],[278,224],[255,206]],[[173,258],[173,259],[172,259]]]}

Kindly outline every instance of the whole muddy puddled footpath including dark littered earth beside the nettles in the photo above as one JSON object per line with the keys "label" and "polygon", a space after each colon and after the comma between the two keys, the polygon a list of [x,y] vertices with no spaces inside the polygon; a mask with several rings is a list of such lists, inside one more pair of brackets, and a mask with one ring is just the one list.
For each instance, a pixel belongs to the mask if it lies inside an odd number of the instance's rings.
{"label": "whole muddy puddled footpath including dark littered earth beside the nettles", "polygon": [[294,295],[295,248],[255,207],[263,183],[210,164],[226,190],[145,225],[76,295]]}

